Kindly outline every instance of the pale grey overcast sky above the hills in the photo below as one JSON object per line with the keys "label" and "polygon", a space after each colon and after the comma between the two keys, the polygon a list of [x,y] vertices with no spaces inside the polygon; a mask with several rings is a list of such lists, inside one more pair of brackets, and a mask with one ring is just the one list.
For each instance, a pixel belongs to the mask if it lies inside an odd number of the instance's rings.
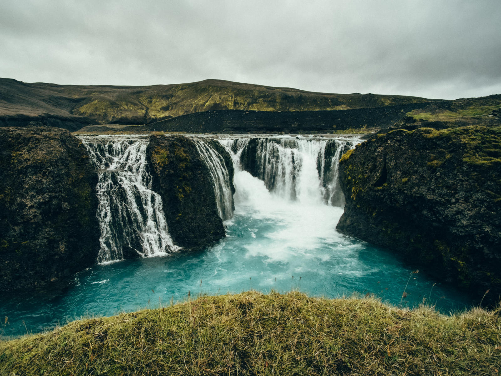
{"label": "pale grey overcast sky above the hills", "polygon": [[6,0],[0,77],[478,97],[501,93],[501,3]]}

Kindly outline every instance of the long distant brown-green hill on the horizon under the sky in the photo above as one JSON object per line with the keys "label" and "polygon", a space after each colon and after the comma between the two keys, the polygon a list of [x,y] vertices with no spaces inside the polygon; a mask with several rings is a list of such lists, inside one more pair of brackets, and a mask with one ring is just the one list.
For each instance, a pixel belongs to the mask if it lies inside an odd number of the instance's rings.
{"label": "long distant brown-green hill on the horizon under the sky", "polygon": [[70,130],[88,124],[149,124],[209,110],[346,110],[422,102],[429,100],[370,93],[314,93],[222,80],[153,86],[79,86],[0,79],[0,125],[39,121],[57,126],[55,123],[60,122]]}

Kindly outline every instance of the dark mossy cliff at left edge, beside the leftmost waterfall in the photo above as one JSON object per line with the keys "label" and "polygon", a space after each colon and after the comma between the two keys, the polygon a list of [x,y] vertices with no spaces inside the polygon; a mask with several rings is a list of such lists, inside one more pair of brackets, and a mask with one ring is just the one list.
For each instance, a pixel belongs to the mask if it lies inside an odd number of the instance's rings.
{"label": "dark mossy cliff at left edge, beside the leftmost waterfall", "polygon": [[81,141],[52,127],[0,128],[3,291],[62,287],[99,250],[96,173]]}

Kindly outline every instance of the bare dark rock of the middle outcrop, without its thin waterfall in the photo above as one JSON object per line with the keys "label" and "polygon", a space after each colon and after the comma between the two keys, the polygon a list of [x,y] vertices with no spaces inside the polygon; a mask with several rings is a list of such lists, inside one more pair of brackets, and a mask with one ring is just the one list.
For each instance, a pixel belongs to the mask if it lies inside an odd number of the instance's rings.
{"label": "bare dark rock of the middle outcrop, without its thin waterfall", "polygon": [[[233,176],[229,153],[217,141],[206,141],[223,155]],[[151,136],[146,154],[152,167],[153,190],[162,197],[174,243],[201,249],[223,238],[224,226],[217,211],[210,173],[194,141],[184,136]]]}

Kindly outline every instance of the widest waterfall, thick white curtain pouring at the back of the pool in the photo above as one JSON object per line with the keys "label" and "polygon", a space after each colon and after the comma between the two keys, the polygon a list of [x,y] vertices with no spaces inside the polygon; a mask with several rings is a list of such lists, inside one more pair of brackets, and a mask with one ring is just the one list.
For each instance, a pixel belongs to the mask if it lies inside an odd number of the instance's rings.
{"label": "widest waterfall, thick white curtain pouring at the back of the pool", "polygon": [[344,206],[339,158],[355,147],[355,137],[239,137],[220,142],[235,166],[265,182],[280,197],[304,203]]}

